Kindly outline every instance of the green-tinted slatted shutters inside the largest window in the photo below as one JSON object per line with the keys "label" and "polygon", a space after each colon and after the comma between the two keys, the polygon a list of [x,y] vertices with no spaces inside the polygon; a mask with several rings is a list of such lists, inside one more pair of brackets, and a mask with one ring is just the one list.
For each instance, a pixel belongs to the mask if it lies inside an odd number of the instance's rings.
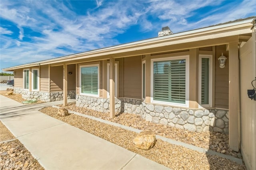
{"label": "green-tinted slatted shutters inside the largest window", "polygon": [[153,83],[154,100],[185,103],[186,59],[154,62]]}

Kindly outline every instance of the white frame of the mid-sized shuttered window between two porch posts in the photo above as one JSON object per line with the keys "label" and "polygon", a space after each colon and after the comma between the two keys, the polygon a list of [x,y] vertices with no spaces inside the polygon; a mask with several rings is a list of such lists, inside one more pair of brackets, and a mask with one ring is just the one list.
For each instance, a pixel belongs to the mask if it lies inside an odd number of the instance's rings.
{"label": "white frame of the mid-sized shuttered window between two porch posts", "polygon": [[[93,95],[93,94],[88,94],[88,93],[82,93],[82,88],[81,88],[81,68],[83,67],[98,67],[98,95]],[[80,65],[79,66],[79,91],[80,91],[80,95],[84,95],[84,96],[91,96],[91,97],[100,97],[100,64],[88,64],[88,65]]]}

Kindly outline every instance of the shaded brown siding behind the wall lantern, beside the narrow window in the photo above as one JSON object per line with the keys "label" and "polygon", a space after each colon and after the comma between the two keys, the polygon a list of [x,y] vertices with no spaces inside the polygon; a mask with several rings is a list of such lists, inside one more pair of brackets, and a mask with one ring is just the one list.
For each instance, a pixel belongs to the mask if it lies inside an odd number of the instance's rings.
{"label": "shaded brown siding behind the wall lantern, beside the narrow window", "polygon": [[[218,57],[223,53],[227,57],[224,68],[220,68]],[[215,58],[215,107],[228,109],[228,51],[226,51],[226,45],[216,46],[216,58]]]}

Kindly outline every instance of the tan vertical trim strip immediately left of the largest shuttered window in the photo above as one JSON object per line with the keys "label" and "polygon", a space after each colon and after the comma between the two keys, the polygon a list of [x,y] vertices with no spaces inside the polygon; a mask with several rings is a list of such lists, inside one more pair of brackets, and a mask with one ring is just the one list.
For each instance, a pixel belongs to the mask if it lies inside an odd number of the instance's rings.
{"label": "tan vertical trim strip immediately left of the largest shuttered window", "polygon": [[145,93],[145,97],[146,97],[146,103],[150,103],[150,93],[151,93],[151,55],[150,54],[146,54],[145,57],[146,60],[146,73],[145,73],[145,77],[146,77],[146,81],[145,81],[145,86],[146,86],[146,93]]}

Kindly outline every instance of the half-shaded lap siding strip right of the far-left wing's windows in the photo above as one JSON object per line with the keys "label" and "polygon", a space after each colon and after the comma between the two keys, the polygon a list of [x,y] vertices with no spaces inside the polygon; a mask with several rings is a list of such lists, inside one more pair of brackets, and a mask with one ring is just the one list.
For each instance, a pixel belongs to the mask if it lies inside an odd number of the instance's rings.
{"label": "half-shaded lap siding strip right of the far-left wing's windows", "polygon": [[40,66],[40,91],[49,91],[48,65]]}

